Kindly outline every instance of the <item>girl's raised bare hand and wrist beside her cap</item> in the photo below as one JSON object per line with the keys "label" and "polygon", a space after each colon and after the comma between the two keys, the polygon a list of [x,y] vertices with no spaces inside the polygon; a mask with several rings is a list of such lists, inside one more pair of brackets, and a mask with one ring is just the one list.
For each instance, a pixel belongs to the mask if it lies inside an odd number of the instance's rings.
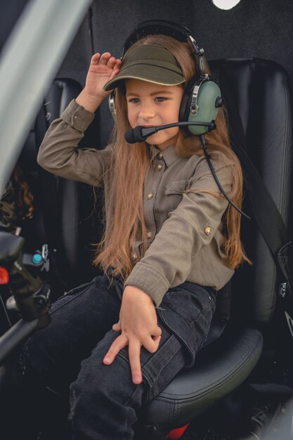
{"label": "girl's raised bare hand and wrist beside her cap", "polygon": [[121,64],[122,61],[112,56],[110,52],[102,55],[95,53],[91,58],[84,89],[77,96],[77,104],[95,112],[103,99],[110,94],[109,91],[104,91],[103,87],[119,73]]}

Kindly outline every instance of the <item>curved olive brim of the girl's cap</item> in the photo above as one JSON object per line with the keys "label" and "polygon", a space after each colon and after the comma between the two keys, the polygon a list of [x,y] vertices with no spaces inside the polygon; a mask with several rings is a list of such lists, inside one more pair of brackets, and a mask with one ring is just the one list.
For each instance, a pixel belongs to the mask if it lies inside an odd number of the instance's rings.
{"label": "curved olive brim of the girl's cap", "polygon": [[141,79],[141,81],[162,86],[178,86],[185,82],[183,75],[167,68],[149,64],[136,64],[126,67],[123,72],[111,79],[105,84],[104,90],[110,91],[115,89],[115,87],[118,87],[125,79]]}

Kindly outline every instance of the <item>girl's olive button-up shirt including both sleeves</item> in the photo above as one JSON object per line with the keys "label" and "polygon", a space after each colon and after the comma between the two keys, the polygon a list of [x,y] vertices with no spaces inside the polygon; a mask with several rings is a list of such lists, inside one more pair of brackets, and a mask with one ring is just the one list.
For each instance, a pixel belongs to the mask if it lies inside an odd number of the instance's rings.
{"label": "girl's olive button-up shirt including both sleeves", "polygon": [[[67,179],[104,186],[106,221],[112,215],[107,204],[111,185],[111,145],[104,150],[77,148],[93,113],[72,101],[52,122],[39,150],[38,162],[48,172]],[[233,164],[219,155],[212,160],[227,193]],[[169,287],[185,281],[219,290],[233,275],[225,264],[221,218],[228,202],[204,192],[219,188],[204,157],[179,157],[173,146],[155,148],[145,176],[143,193],[148,250],[141,255],[141,241],[134,244],[134,268],[125,285],[145,291],[159,306]]]}

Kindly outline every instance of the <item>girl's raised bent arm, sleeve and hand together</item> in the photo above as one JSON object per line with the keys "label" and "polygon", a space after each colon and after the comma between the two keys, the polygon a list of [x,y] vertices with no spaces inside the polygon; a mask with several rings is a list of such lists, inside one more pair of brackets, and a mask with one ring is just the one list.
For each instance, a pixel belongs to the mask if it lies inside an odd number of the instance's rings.
{"label": "girl's raised bent arm, sleeve and hand together", "polygon": [[79,148],[84,131],[93,121],[100,103],[110,92],[103,86],[117,75],[121,61],[109,52],[96,53],[86,77],[86,85],[60,118],[52,122],[39,148],[38,163],[57,176],[99,186],[110,158],[110,149]]}

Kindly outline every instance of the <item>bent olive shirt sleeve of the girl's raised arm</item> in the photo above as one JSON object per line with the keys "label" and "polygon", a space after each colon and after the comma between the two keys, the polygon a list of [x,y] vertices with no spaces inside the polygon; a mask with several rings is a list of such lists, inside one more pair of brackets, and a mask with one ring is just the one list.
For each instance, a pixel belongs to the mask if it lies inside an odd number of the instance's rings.
{"label": "bent olive shirt sleeve of the girl's raised arm", "polygon": [[99,186],[109,162],[111,147],[77,148],[94,114],[74,100],[48,128],[39,148],[38,163],[66,179]]}

